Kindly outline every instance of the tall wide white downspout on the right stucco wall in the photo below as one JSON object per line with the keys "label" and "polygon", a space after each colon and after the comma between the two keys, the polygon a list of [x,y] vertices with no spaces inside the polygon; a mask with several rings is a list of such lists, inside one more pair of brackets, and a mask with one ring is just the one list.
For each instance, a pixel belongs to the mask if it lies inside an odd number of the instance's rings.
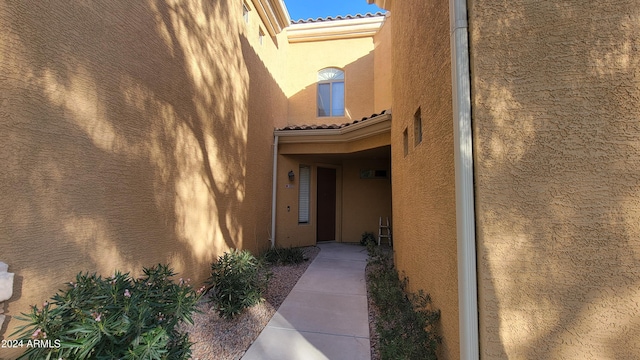
{"label": "tall wide white downspout on the right stucco wall", "polygon": [[480,358],[473,195],[473,148],[466,0],[449,0],[456,171],[460,359]]}

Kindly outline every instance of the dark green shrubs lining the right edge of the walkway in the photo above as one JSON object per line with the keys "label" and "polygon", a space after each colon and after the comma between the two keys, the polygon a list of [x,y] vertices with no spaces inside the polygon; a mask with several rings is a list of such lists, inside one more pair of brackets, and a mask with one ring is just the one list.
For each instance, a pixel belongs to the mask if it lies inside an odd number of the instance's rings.
{"label": "dark green shrubs lining the right edge of the walkway", "polygon": [[431,298],[422,291],[407,295],[407,278],[400,280],[388,252],[369,247],[367,272],[369,293],[379,318],[380,357],[385,359],[436,359],[440,337],[435,326],[440,311],[431,306]]}

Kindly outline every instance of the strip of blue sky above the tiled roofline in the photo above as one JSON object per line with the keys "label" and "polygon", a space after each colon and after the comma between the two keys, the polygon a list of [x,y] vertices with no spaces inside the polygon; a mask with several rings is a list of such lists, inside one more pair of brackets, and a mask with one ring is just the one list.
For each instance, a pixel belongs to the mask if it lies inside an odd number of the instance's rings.
{"label": "strip of blue sky above the tiled roofline", "polygon": [[291,20],[384,12],[367,0],[284,0]]}

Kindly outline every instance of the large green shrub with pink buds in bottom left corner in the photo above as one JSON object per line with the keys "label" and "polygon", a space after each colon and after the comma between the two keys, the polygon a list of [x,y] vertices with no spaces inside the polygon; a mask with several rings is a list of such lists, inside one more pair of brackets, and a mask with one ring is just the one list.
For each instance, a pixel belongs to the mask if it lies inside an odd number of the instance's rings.
{"label": "large green shrub with pink buds in bottom left corner", "polygon": [[[28,322],[12,334],[27,348],[21,358],[188,359],[191,343],[177,325],[193,322],[204,287],[175,284],[174,275],[167,265],[144,269],[140,279],[78,274],[41,309],[17,317]],[[28,346],[35,340],[48,346]]]}

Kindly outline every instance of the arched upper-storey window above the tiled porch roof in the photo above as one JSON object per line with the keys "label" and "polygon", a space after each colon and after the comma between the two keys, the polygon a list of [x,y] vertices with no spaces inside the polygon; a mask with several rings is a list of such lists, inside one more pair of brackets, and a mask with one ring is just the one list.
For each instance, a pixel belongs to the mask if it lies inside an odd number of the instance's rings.
{"label": "arched upper-storey window above the tiled porch roof", "polygon": [[344,116],[344,71],[318,71],[318,116]]}

